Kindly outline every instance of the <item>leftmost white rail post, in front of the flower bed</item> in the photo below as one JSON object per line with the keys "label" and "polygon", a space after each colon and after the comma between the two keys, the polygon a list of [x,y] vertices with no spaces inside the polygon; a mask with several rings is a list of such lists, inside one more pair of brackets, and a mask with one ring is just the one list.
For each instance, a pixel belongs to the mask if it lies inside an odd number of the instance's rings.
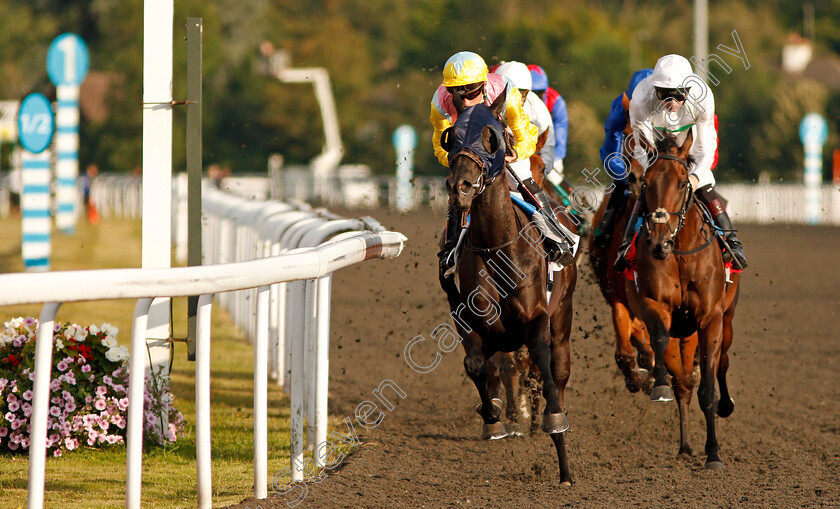
{"label": "leftmost white rail post, in front of the flower bed", "polygon": [[61,303],[49,302],[41,309],[38,339],[35,343],[35,384],[32,395],[32,422],[29,444],[30,509],[44,507],[44,476],[47,467],[47,419],[50,411],[50,376],[52,371],[53,320]]}

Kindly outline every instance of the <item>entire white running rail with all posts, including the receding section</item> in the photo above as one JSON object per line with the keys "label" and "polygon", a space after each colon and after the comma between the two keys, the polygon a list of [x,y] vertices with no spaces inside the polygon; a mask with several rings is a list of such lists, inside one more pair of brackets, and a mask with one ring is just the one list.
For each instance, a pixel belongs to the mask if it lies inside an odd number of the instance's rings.
{"label": "entire white running rail with all posts, including the receding section", "polygon": [[[0,305],[45,303],[36,342],[31,427],[30,508],[43,507],[53,321],[62,302],[138,299],[131,333],[126,506],[139,507],[142,473],[146,322],[156,297],[200,295],[196,332],[196,463],[198,506],[212,506],[210,441],[210,304],[214,294],[254,337],[254,491],[265,498],[269,368],[291,385],[291,471],[303,478],[303,418],[311,442],[326,440],[330,274],[371,258],[393,258],[405,237],[372,220],[343,220],[325,211],[255,204],[205,189],[207,249],[212,265],[0,276]],[[126,209],[122,209],[126,211]],[[250,224],[249,224],[250,223]],[[348,231],[356,230],[356,231]],[[369,230],[369,231],[358,231]],[[322,242],[339,232],[328,242]],[[283,253],[283,254],[281,254]],[[252,259],[249,259],[251,257]],[[258,259],[257,259],[258,258]],[[248,260],[248,261],[234,261]],[[253,296],[243,298],[246,290]],[[308,317],[306,319],[305,317]],[[247,322],[247,323],[246,323]],[[273,355],[269,355],[273,352]],[[271,359],[271,361],[269,360]],[[317,456],[317,455],[316,455]],[[319,460],[316,458],[316,461]]]}

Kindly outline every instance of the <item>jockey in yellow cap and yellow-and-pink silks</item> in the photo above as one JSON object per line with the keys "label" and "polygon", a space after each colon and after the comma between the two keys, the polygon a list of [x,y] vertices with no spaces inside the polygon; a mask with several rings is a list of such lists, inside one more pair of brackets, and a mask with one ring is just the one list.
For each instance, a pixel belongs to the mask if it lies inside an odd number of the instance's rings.
{"label": "jockey in yellow cap and yellow-and-pink silks", "polygon": [[[504,121],[514,137],[513,147],[510,147],[513,154],[506,156],[505,162],[511,163],[517,159],[527,160],[531,157],[537,144],[537,127],[531,124],[522,109],[522,94],[502,75],[488,75],[487,64],[479,55],[470,51],[461,51],[446,61],[443,68],[443,83],[432,96],[429,118],[434,128],[432,147],[442,165],[449,166],[449,154],[441,147],[440,138],[443,131],[450,127],[458,117],[452,102],[453,93],[461,97],[465,106],[481,103],[490,105],[499,95],[505,94],[507,100]],[[460,229],[461,214],[450,207],[447,212],[443,250],[438,253],[441,272],[455,263],[449,255],[458,243]]]}

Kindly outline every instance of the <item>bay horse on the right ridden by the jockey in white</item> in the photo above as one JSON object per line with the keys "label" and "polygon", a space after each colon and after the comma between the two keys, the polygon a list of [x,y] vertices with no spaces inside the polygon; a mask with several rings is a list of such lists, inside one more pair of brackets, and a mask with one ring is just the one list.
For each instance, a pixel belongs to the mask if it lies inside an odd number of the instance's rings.
{"label": "bay horse on the right ridden by the jockey in white", "polygon": [[726,372],[739,276],[733,274],[727,288],[721,251],[688,180],[692,141],[690,132],[682,146],[674,137],[665,136],[657,144],[656,160],[645,172],[642,196],[648,212],[643,216],[644,235],[638,236],[636,244],[638,300],[629,301],[633,313],[642,317],[654,351],[652,400],[673,398],[667,373],[673,377],[680,414],[680,454],[692,454],[688,407],[694,356],[699,349],[697,399],[706,418],[706,468],[719,469],[723,462],[715,413],[727,417],[734,409]]}

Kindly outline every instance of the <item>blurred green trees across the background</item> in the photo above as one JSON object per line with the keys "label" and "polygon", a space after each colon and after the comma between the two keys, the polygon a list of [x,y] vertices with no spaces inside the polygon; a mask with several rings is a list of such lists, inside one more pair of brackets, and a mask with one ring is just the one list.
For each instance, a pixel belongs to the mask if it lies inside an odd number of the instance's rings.
{"label": "blurred green trees across the background", "polygon": [[[143,0],[0,0],[0,97],[18,98],[51,88],[43,66],[55,35],[74,31],[91,49],[91,69],[113,73],[103,121],[82,119],[81,159],[105,171],[141,164]],[[312,87],[279,83],[262,72],[259,46],[286,50],[295,67],[330,72],[339,113],[344,161],[392,172],[391,133],[400,124],[418,130],[419,174],[439,175],[431,152],[429,102],[445,60],[476,51],[488,64],[521,60],[542,65],[554,88],[574,105],[567,173],[600,163],[597,149],[612,99],[630,74],[652,67],[665,53],[693,50],[689,0],[545,4],[488,0],[481,8],[459,0],[175,0],[173,90],[186,94],[186,17],[204,20],[203,133],[206,164],[233,172],[263,172],[271,153],[306,163],[323,145]],[[817,52],[840,50],[834,26],[840,0],[814,2]],[[832,132],[840,127],[837,93],[823,85],[794,84],[779,71],[781,47],[801,31],[800,4],[775,0],[710,2],[709,49],[730,65],[713,87],[720,117],[718,178],[752,179],[765,170],[791,177],[798,171],[794,118],[806,104],[792,99],[801,87],[822,99]],[[737,30],[750,62],[717,50],[734,47]],[[798,106],[793,107],[793,104]],[[828,109],[827,109],[828,108]],[[185,112],[174,113],[174,168],[184,167]],[[786,122],[786,123],[785,123]],[[784,124],[784,125],[782,125]],[[830,138],[835,140],[835,138]],[[772,143],[770,143],[772,140]],[[772,144],[772,148],[767,145]]]}

